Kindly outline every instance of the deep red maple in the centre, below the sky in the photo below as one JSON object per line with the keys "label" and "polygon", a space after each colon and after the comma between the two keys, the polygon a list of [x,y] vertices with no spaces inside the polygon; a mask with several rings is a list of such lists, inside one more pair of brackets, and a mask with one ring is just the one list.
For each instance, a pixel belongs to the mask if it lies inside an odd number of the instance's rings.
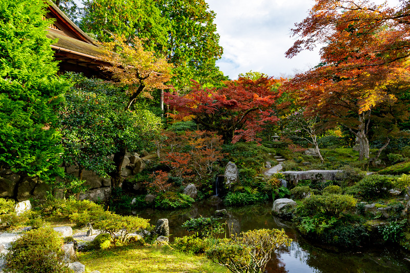
{"label": "deep red maple in the centre, below the sky", "polygon": [[280,96],[274,88],[277,80],[260,77],[225,82],[219,90],[199,85],[187,95],[166,94],[166,103],[178,112],[176,119],[192,117],[206,130],[216,131],[224,142],[258,140],[262,126],[276,122],[272,106]]}

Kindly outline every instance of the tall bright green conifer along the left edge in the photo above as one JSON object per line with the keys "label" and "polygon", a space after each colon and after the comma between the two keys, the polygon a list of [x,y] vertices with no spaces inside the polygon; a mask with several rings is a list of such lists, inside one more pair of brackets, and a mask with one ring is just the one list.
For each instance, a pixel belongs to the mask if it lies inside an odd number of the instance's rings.
{"label": "tall bright green conifer along the left edge", "polygon": [[0,168],[47,181],[62,174],[54,107],[68,88],[56,76],[43,0],[0,5]]}

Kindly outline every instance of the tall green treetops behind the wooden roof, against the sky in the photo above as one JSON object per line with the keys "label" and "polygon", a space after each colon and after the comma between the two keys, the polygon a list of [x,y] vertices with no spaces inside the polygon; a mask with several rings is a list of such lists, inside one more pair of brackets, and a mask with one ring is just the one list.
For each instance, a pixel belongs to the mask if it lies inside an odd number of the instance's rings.
{"label": "tall green treetops behind the wooden roof, against the sky", "polygon": [[190,79],[202,85],[227,80],[215,61],[222,56],[213,23],[215,12],[204,0],[84,0],[80,26],[103,42],[113,34],[126,43],[138,36],[146,50],[175,65],[172,84],[181,89]]}

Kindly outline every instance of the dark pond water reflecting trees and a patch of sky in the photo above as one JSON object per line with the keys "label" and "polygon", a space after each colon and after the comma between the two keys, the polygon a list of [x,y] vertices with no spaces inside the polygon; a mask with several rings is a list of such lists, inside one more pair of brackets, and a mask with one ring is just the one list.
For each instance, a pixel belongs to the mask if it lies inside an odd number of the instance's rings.
{"label": "dark pond water reflecting trees and a patch of sky", "polygon": [[401,273],[410,272],[410,257],[400,249],[366,248],[356,251],[337,251],[314,246],[300,237],[290,222],[285,222],[271,215],[272,202],[244,207],[225,207],[209,205],[206,202],[194,204],[191,208],[178,211],[157,211],[144,209],[133,212],[140,217],[151,219],[155,224],[158,219],[168,218],[171,241],[174,237],[188,235],[181,228],[183,222],[199,216],[210,217],[215,210],[226,208],[229,226],[239,233],[255,228],[279,228],[293,239],[289,248],[277,249],[272,255],[267,269],[273,272],[355,272],[355,273]]}

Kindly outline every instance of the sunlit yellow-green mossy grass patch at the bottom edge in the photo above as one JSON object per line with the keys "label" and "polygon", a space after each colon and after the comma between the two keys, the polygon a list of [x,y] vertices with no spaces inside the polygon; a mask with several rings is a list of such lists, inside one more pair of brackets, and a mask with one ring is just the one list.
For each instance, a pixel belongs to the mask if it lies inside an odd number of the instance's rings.
{"label": "sunlit yellow-green mossy grass patch at the bottom edge", "polygon": [[79,253],[78,260],[86,265],[86,272],[228,272],[226,268],[212,263],[204,256],[179,253],[166,247],[152,248],[136,244]]}

